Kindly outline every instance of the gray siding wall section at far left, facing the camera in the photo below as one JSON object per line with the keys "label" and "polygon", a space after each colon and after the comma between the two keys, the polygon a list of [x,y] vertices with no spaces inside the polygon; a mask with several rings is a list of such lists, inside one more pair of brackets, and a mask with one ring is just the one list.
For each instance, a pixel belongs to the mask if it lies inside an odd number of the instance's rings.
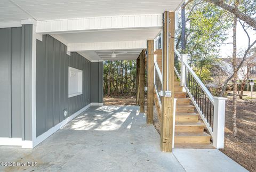
{"label": "gray siding wall section at far left, facing the camera", "polygon": [[0,29],[0,137],[32,140],[32,25]]}

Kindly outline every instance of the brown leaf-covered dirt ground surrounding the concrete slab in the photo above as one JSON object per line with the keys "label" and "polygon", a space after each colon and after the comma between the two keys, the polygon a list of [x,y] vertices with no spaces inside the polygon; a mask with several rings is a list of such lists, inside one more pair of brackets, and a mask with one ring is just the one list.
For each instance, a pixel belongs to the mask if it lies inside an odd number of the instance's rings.
{"label": "brown leaf-covered dirt ground surrounding the concrete slab", "polygon": [[[237,99],[237,136],[232,133],[232,94],[228,94],[225,118],[225,148],[220,150],[249,171],[256,171],[256,92],[253,99],[244,92],[244,100]],[[106,105],[135,105],[135,96],[104,97]],[[146,107],[145,107],[146,110]],[[159,133],[159,121],[154,108],[154,126]]]}

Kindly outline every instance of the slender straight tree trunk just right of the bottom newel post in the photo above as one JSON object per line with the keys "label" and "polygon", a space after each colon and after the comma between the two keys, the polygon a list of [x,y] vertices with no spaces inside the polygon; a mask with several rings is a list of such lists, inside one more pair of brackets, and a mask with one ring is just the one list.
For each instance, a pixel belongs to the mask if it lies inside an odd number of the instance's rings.
{"label": "slender straight tree trunk just right of the bottom newel post", "polygon": [[232,135],[236,136],[237,126],[236,126],[236,108],[237,108],[237,59],[236,59],[236,26],[237,26],[237,17],[234,17],[233,23],[233,70],[234,70],[234,88],[233,88],[233,131]]}

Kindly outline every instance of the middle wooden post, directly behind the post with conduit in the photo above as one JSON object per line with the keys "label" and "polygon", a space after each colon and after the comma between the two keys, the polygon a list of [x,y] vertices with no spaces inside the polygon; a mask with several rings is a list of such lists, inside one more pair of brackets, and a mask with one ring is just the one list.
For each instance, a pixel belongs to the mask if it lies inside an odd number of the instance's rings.
{"label": "middle wooden post, directly behind the post with conduit", "polygon": [[153,124],[154,113],[154,40],[148,40],[148,90],[147,90],[147,124]]}

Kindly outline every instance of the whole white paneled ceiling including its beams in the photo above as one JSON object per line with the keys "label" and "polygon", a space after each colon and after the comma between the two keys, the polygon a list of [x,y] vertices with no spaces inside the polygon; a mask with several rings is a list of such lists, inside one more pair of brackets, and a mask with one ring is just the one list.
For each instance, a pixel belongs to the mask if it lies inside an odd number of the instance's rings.
{"label": "whole white paneled ceiling including its beams", "polygon": [[133,60],[161,30],[161,14],[183,1],[0,0],[0,27],[34,19],[39,34],[53,34],[70,52],[91,61]]}

